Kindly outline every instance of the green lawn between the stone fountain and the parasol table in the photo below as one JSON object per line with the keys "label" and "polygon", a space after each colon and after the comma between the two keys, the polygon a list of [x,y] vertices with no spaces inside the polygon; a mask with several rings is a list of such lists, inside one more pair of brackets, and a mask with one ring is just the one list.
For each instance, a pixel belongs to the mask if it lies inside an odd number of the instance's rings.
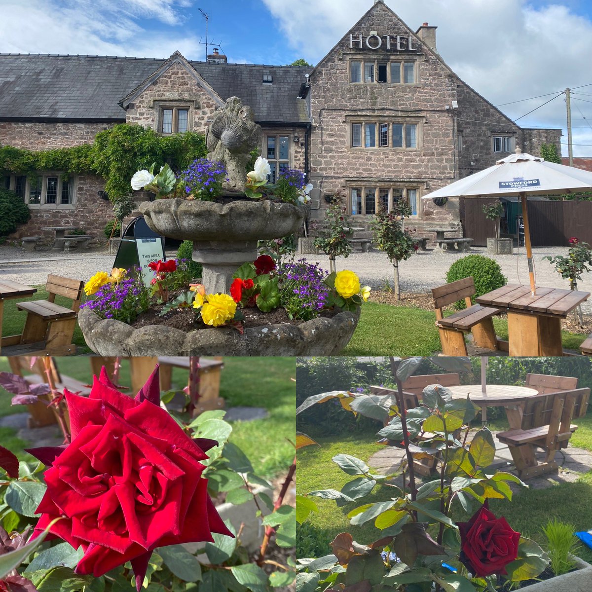
{"label": "green lawn between the stone fountain and the parasol table", "polygon": [[[452,314],[452,310],[447,314]],[[433,311],[368,302],[344,356],[430,356],[442,351]],[[494,318],[497,336],[508,338],[508,322]],[[584,334],[562,332],[564,348],[577,350]]]}

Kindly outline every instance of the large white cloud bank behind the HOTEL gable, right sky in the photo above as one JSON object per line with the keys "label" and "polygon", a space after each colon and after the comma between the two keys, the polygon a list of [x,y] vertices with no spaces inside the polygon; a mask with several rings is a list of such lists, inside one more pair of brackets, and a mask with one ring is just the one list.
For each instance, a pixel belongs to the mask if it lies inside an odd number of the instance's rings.
{"label": "large white cloud bank behind the HOTEL gable, right sky", "polygon": [[[263,2],[291,47],[313,63],[371,7],[369,0]],[[557,0],[548,6],[526,0],[387,0],[386,4],[414,31],[422,22],[437,25],[437,48],[443,59],[494,105],[592,83],[588,65],[592,22],[575,14],[568,6],[574,4],[570,0]],[[582,90],[592,93],[592,86]],[[501,109],[515,119],[551,96]],[[573,101],[574,144],[590,146],[574,146],[574,154],[592,156],[592,130],[576,104]],[[578,106],[592,120],[592,104],[580,102]],[[561,96],[519,123],[525,127],[563,127],[562,141],[567,142],[565,120]],[[576,133],[576,125],[584,127]],[[567,147],[563,151],[567,155]]]}

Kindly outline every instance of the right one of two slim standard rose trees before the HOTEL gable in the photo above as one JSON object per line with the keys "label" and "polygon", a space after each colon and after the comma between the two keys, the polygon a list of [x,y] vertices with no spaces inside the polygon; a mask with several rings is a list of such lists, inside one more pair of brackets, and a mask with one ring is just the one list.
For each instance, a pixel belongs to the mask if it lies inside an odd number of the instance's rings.
{"label": "right one of two slim standard rose trees before the HOTEL gable", "polygon": [[413,236],[403,228],[402,219],[407,204],[401,204],[398,208],[388,213],[381,210],[376,214],[371,227],[374,232],[374,240],[381,251],[387,253],[392,263],[395,275],[395,298],[401,300],[401,285],[399,281],[399,262],[410,258],[418,249]]}

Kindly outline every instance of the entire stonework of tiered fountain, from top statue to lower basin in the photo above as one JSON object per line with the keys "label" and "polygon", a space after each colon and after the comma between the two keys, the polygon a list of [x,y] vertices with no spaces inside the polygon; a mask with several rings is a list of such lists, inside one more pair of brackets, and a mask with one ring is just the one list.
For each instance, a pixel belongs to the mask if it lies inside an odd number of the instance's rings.
{"label": "entire stonework of tiered fountain, from top statue to lower basin", "polygon": [[[205,139],[208,159],[226,165],[228,180],[221,199],[156,200],[143,202],[140,211],[148,226],[162,236],[192,240],[192,258],[202,265],[207,294],[228,293],[236,269],[257,258],[258,240],[295,233],[307,207],[245,197],[246,166],[250,153],[260,145],[261,127],[239,98],[229,98],[215,113]],[[163,325],[134,329],[120,321],[101,320],[83,308],[79,324],[87,345],[103,356],[327,356],[336,355],[348,344],[358,318],[359,309],[297,326],[251,327],[243,334],[230,327],[185,333]]]}

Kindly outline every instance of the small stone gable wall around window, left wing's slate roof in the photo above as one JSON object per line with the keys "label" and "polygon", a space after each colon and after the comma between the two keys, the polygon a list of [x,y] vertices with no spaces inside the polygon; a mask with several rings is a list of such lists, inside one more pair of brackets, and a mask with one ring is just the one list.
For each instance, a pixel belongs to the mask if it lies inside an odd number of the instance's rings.
{"label": "small stone gable wall around window, left wing's slate roof", "polygon": [[209,120],[214,114],[217,104],[204,91],[195,78],[179,63],[169,67],[145,91],[133,101],[127,110],[127,123],[139,123],[144,127],[157,128],[160,103],[189,105],[188,128],[190,131],[205,133]]}

